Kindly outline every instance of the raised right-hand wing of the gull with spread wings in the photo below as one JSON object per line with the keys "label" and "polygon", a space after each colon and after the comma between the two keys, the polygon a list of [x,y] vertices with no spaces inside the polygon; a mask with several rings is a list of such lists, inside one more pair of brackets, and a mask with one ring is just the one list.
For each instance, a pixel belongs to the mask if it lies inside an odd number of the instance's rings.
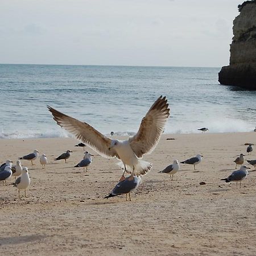
{"label": "raised right-hand wing of the gull with spread wings", "polygon": [[170,115],[166,97],[160,96],[143,117],[138,133],[129,139],[138,158],[150,154],[159,142]]}

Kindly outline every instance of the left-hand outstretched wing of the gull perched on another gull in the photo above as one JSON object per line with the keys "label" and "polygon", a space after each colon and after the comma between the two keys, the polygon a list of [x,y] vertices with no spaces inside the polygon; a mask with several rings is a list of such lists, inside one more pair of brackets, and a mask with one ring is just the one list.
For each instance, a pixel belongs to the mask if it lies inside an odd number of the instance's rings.
{"label": "left-hand outstretched wing of the gull perched on another gull", "polygon": [[47,108],[49,109],[49,112],[52,113],[53,119],[57,122],[57,124],[69,131],[69,133],[75,135],[79,141],[84,142],[105,158],[117,156],[115,155],[113,148],[109,150],[111,139],[105,137],[92,126],[88,125],[88,123],[81,122],[73,117],[69,117],[68,115],[63,114],[50,106],[47,106]]}

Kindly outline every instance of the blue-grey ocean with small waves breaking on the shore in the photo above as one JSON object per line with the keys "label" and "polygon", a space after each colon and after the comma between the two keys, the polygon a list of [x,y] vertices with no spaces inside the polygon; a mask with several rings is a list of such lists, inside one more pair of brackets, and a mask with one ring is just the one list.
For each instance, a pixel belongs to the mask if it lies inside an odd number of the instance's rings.
{"label": "blue-grey ocean with small waves breaking on the shore", "polygon": [[256,92],[218,83],[218,68],[0,64],[0,138],[70,137],[47,105],[105,135],[133,135],[160,96],[165,134],[252,131]]}

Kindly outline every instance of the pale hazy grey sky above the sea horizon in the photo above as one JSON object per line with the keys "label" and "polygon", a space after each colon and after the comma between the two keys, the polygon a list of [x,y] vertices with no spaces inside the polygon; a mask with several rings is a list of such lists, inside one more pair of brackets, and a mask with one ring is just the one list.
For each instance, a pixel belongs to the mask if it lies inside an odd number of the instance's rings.
{"label": "pale hazy grey sky above the sea horizon", "polygon": [[240,0],[0,0],[0,63],[221,67]]}

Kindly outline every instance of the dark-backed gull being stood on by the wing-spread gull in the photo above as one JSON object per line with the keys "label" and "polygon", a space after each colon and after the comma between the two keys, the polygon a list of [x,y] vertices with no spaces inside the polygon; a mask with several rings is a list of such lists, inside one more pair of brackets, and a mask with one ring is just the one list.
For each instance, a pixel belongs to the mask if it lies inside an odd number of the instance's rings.
{"label": "dark-backed gull being stood on by the wing-spread gull", "polygon": [[110,194],[108,196],[105,196],[104,198],[108,199],[109,197],[118,196],[122,194],[126,194],[126,201],[127,201],[127,194],[129,194],[129,199],[131,201],[130,193],[135,191],[139,187],[139,184],[141,184],[141,176],[133,176],[130,175],[129,177],[126,177],[124,180],[121,180],[115,185],[115,187],[112,189]]}

